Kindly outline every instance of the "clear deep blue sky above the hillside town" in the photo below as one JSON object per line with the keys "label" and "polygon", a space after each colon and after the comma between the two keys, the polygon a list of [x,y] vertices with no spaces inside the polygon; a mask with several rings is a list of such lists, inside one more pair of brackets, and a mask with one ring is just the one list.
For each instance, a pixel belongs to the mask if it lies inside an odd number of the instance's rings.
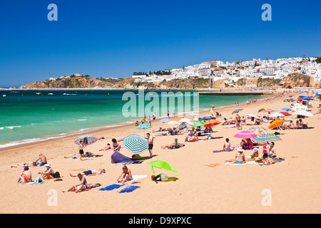
{"label": "clear deep blue sky above the hillside town", "polygon": [[[48,21],[48,5],[58,21]],[[272,21],[263,21],[263,4]],[[0,87],[73,73],[321,56],[320,0],[0,1]]]}

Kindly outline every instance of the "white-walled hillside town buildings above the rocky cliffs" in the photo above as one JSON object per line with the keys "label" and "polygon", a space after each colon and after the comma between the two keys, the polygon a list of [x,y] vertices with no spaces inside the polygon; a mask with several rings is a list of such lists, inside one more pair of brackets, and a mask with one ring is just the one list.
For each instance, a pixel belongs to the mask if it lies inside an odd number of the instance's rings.
{"label": "white-walled hillside town buildings above the rocky cliffs", "polygon": [[[283,79],[290,73],[303,73],[315,81],[321,81],[321,63],[316,57],[294,57],[272,59],[255,59],[252,61],[208,61],[183,68],[173,68],[157,73],[133,73],[136,82],[157,82],[183,80],[187,78],[206,78],[209,85],[225,79],[233,85],[241,78],[274,78]],[[253,85],[255,86],[255,85]]]}

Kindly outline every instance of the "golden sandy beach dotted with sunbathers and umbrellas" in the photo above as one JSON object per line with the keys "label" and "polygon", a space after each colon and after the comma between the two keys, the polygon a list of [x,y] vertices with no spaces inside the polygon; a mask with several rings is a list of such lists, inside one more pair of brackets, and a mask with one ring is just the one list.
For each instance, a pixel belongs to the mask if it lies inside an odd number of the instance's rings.
{"label": "golden sandy beach dotted with sunbathers and umbrellas", "polygon": [[[297,94],[295,94],[297,96]],[[233,117],[231,114],[237,108],[243,108],[240,115],[258,114],[260,108],[290,108],[290,103],[284,103],[287,98],[282,98],[251,105],[228,107],[219,110],[222,118]],[[317,105],[312,101],[310,113],[317,113]],[[200,113],[201,116],[209,115]],[[295,116],[290,116],[294,118]],[[180,120],[181,117],[172,118]],[[285,117],[286,124],[291,120]],[[282,130],[281,141],[275,142],[277,157],[285,157],[285,161],[273,165],[225,165],[225,160],[235,158],[235,151],[217,152],[222,150],[225,138],[229,138],[231,145],[239,145],[240,139],[233,136],[240,132],[237,128],[228,128],[226,125],[213,127],[211,133],[214,139],[200,142],[184,142],[187,134],[156,136],[154,137],[153,157],[148,151],[143,152],[141,164],[128,165],[133,175],[147,175],[137,180],[136,186],[140,188],[129,193],[118,193],[118,190],[100,191],[101,187],[117,184],[116,180],[121,175],[122,165],[111,163],[113,150],[99,151],[111,143],[112,138],[125,138],[130,134],[143,135],[143,130],[138,130],[134,125],[102,130],[93,133],[96,137],[104,137],[86,150],[101,157],[86,157],[80,159],[66,159],[65,155],[78,152],[78,146],[73,142],[74,137],[63,138],[35,145],[26,145],[0,152],[0,173],[2,197],[0,199],[1,213],[320,213],[321,212],[321,187],[320,171],[318,164],[320,140],[321,115],[305,118],[309,129]],[[297,119],[293,119],[297,120]],[[254,126],[243,125],[243,130]],[[267,128],[269,123],[261,126]],[[152,123],[156,130],[159,127],[168,128],[165,123]],[[274,133],[275,130],[269,130]],[[175,150],[162,150],[162,145],[168,145],[178,138],[178,142],[185,143],[185,147]],[[204,137],[203,137],[204,138]],[[123,142],[120,142],[123,145]],[[260,149],[260,152],[262,150]],[[39,153],[46,155],[51,167],[60,172],[62,181],[45,180],[43,184],[17,185],[17,180],[22,168],[11,168],[11,165],[23,164],[36,160]],[[132,152],[126,148],[121,149],[126,157],[131,157]],[[245,150],[245,155],[251,155],[253,150]],[[163,171],[170,180],[168,182],[151,181],[151,165],[153,160],[164,160],[178,172]],[[62,192],[71,185],[78,184],[77,177],[69,173],[78,173],[85,170],[104,168],[106,175],[86,177],[88,184],[100,183],[86,192]],[[30,168],[33,180],[44,171],[45,167]],[[156,174],[161,170],[155,168]],[[132,183],[128,182],[128,186]],[[266,193],[270,192],[270,205],[265,205]],[[52,204],[53,195],[56,194],[56,204]],[[155,200],[157,199],[157,200]]]}

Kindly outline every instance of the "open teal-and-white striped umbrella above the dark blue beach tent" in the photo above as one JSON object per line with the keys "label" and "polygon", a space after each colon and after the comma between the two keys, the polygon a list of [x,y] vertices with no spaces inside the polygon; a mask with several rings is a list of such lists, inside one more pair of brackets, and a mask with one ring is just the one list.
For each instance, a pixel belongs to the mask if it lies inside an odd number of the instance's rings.
{"label": "open teal-and-white striped umbrella above the dark blue beach tent", "polygon": [[148,140],[141,135],[128,135],[123,139],[123,147],[131,152],[141,153],[148,150]]}

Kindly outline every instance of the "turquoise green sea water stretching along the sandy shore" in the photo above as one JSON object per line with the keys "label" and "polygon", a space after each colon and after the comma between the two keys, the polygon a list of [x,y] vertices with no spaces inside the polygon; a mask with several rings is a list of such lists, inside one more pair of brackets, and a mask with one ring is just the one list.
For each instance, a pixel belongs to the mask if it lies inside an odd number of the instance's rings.
{"label": "turquoise green sea water stretching along the sandy shore", "polygon": [[[86,133],[95,128],[122,125],[141,120],[141,117],[126,117],[123,106],[128,100],[122,100],[123,93],[138,91],[128,90],[0,90],[0,148],[22,143],[48,140],[63,137],[73,133]],[[156,92],[144,91],[145,95]],[[175,91],[172,91],[175,93]],[[190,97],[191,106],[193,93],[183,91],[184,99]],[[36,94],[41,93],[41,94]],[[155,93],[154,93],[155,94]],[[200,109],[233,105],[236,101],[245,102],[248,99],[259,99],[259,96],[198,96]],[[143,98],[144,100],[144,98]],[[153,99],[152,99],[153,101]],[[178,103],[169,102],[165,106],[170,112],[178,111]],[[136,110],[141,110],[142,103],[136,102]],[[143,107],[151,104],[143,101]],[[197,105],[196,105],[197,106]],[[161,108],[161,101],[159,102]],[[195,113],[198,110],[190,108]],[[160,117],[161,113],[156,113]]]}

